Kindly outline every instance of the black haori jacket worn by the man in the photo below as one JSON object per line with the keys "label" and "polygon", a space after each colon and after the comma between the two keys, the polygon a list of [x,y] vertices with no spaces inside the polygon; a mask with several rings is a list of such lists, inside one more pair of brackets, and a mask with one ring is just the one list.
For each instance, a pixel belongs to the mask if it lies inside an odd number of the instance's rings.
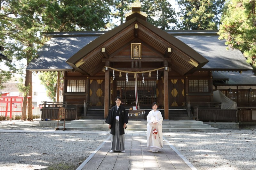
{"label": "black haori jacket worn by the man", "polygon": [[125,112],[125,108],[123,106],[119,106],[118,110],[117,106],[113,106],[111,110],[108,112],[108,117],[106,119],[106,123],[111,125],[111,131],[110,133],[112,135],[115,135],[115,129],[116,129],[116,116],[119,116],[119,135],[124,135],[124,123],[128,123],[128,115]]}

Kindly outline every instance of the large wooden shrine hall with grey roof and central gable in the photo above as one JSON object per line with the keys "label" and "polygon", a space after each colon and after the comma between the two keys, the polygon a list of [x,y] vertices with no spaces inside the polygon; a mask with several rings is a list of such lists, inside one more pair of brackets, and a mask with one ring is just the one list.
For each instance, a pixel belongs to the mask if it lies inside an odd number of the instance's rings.
{"label": "large wooden shrine hall with grey roof and central gable", "polygon": [[[86,101],[87,114],[95,109],[106,118],[120,96],[127,110],[139,106],[146,114],[157,102],[164,119],[184,112],[193,119],[188,104],[212,104],[214,90],[239,90],[227,77],[215,81],[214,72],[252,69],[239,50],[226,50],[216,30],[163,31],[147,22],[140,3],[125,18],[110,31],[45,33],[49,41],[27,69],[62,72],[63,102]],[[255,92],[253,83],[243,86]]]}

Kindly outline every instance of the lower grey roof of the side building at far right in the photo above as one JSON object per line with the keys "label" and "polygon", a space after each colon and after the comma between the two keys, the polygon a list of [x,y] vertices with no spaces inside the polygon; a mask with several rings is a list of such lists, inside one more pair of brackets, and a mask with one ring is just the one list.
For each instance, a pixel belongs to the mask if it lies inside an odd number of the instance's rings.
{"label": "lower grey roof of the side building at far right", "polygon": [[[255,86],[256,77],[253,76],[252,71],[243,71],[241,74],[239,72],[228,72],[228,71],[214,71],[212,72],[212,79],[214,85],[237,85],[237,86]],[[228,81],[220,81],[228,80]]]}

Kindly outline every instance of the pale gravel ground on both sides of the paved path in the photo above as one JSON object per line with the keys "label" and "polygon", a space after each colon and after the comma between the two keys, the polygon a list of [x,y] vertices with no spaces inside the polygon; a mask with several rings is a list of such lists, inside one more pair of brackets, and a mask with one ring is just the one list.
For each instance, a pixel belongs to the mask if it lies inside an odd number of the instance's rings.
{"label": "pale gravel ground on both sides of the paved path", "polygon": [[[38,121],[15,120],[0,121],[0,129],[54,128],[39,127]],[[97,131],[0,135],[1,170],[73,170],[108,137],[107,132]],[[255,126],[220,132],[165,132],[164,137],[198,170],[256,170]]]}

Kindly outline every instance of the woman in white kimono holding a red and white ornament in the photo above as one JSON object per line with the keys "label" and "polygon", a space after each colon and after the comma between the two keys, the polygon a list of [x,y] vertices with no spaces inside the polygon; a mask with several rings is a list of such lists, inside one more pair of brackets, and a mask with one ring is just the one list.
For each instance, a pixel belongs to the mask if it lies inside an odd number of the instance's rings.
{"label": "woman in white kimono holding a red and white ornament", "polygon": [[[162,123],[163,123],[163,116],[161,112],[156,110],[158,105],[156,102],[152,104],[153,110],[148,113],[147,116],[147,144],[148,148],[152,150],[152,152],[158,152],[158,150],[163,148],[163,133],[162,133]],[[153,133],[154,132],[154,133]]]}

